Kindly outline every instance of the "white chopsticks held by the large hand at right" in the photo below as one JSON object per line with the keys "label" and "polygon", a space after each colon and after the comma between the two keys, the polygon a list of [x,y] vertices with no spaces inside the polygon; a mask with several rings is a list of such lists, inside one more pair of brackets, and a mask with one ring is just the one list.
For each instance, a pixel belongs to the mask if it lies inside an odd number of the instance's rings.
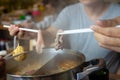
{"label": "white chopsticks held by the large hand at right", "polygon": [[[117,25],[116,27],[120,27],[120,25]],[[57,35],[61,34],[77,34],[77,33],[87,33],[87,32],[93,32],[90,28],[84,28],[84,29],[75,29],[75,30],[65,30],[63,32],[57,33]]]}

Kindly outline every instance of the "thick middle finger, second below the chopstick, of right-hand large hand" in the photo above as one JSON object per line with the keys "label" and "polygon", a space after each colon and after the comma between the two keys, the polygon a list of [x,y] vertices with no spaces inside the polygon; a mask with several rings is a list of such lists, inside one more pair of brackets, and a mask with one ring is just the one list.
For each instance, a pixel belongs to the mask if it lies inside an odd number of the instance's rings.
{"label": "thick middle finger, second below the chopstick, of right-hand large hand", "polygon": [[120,46],[120,38],[113,38],[99,33],[95,33],[95,37],[98,40],[98,42],[102,44],[110,46]]}

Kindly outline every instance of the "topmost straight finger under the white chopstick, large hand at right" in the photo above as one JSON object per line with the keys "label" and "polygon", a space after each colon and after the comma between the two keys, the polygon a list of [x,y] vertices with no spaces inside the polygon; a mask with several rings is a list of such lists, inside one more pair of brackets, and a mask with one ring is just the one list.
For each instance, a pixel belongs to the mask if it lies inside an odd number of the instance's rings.
{"label": "topmost straight finger under the white chopstick, large hand at right", "polygon": [[103,27],[100,27],[100,26],[95,26],[93,25],[91,27],[92,30],[94,30],[95,32],[98,32],[98,33],[101,33],[101,34],[104,34],[106,36],[109,36],[109,37],[119,37],[120,38],[120,28],[117,28],[117,27],[111,27],[111,28],[103,28]]}

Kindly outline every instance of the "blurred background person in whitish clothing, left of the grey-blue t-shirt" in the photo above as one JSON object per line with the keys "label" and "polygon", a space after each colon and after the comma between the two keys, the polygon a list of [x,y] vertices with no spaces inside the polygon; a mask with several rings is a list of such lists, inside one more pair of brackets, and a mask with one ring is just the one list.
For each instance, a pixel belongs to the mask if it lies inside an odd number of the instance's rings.
{"label": "blurred background person in whitish clothing, left of the grey-blue t-shirt", "polygon": [[[65,0],[64,0],[65,1]],[[32,26],[37,27],[38,29],[46,29],[49,27],[57,18],[59,12],[70,3],[64,3],[61,0],[43,0],[39,5],[45,7],[41,12],[40,21],[35,22]],[[41,9],[40,6],[40,9]],[[23,23],[25,26],[29,25],[29,22]]]}

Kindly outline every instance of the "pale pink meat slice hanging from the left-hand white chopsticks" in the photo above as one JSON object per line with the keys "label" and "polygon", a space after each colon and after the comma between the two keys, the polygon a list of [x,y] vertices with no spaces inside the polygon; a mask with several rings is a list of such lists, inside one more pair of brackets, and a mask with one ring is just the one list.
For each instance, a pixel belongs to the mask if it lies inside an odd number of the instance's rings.
{"label": "pale pink meat slice hanging from the left-hand white chopsticks", "polygon": [[36,51],[37,53],[42,53],[42,49],[45,47],[42,31],[39,30],[38,36],[37,36],[37,44],[36,44]]}

